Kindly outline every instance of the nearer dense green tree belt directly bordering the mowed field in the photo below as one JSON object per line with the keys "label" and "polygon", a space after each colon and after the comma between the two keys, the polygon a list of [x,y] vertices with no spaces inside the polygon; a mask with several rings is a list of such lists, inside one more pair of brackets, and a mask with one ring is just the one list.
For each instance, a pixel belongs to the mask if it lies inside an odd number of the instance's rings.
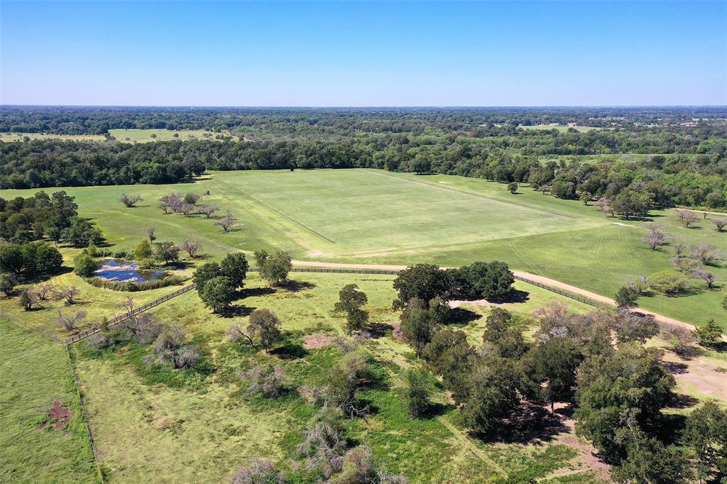
{"label": "nearer dense green tree belt directly bordering the mowed field", "polygon": [[[579,134],[569,133],[567,136]],[[649,155],[642,160],[544,163],[467,140],[422,144],[394,135],[372,140],[125,143],[37,140],[0,143],[4,188],[130,185],[189,180],[205,169],[378,168],[457,174],[547,187],[561,198],[648,192],[654,206],[727,205],[723,153]]]}

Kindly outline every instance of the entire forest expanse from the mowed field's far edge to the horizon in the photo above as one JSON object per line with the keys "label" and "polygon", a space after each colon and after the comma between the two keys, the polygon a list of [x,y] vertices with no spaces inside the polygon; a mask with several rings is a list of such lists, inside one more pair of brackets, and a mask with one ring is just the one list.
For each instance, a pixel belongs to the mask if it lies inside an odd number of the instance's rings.
{"label": "entire forest expanse from the mowed field's far edge to the horizon", "polygon": [[[5,129],[225,129],[245,138],[0,142],[4,188],[173,183],[205,169],[367,167],[529,182],[562,198],[613,201],[625,190],[653,206],[726,206],[727,112],[720,108],[2,109]],[[518,127],[545,121],[611,128]],[[642,122],[656,125],[635,125]],[[647,156],[627,156],[634,153]],[[604,154],[623,156],[575,158]],[[555,156],[557,163],[542,161]]]}

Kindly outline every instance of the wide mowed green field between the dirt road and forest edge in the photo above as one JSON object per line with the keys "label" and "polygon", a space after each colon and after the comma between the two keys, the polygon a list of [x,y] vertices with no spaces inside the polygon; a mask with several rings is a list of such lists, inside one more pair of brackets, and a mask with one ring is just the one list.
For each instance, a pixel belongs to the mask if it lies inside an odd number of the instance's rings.
{"label": "wide mowed green field between the dirt road and forest edge", "polygon": [[[594,206],[564,201],[521,187],[447,175],[417,176],[377,170],[211,172],[193,184],[67,188],[81,214],[91,217],[108,241],[132,249],[156,227],[159,240],[196,238],[220,257],[230,250],[284,249],[296,259],[407,265],[463,265],[502,260],[607,297],[626,281],[670,269],[672,249],[651,251],[641,242],[647,222],[604,217]],[[214,219],[164,214],[164,193],[211,195],[201,203],[233,211],[238,227],[223,233]],[[34,190],[5,190],[4,197]],[[52,189],[47,190],[52,192]],[[135,209],[121,193],[140,194]],[[652,220],[672,234],[671,243],[709,243],[727,251],[727,233],[710,219],[686,229],[670,211]],[[715,216],[710,216],[715,217]],[[711,267],[727,280],[725,265]],[[681,297],[642,297],[640,305],[701,325],[709,318],[727,328],[720,305],[727,291],[707,291],[691,281]]]}

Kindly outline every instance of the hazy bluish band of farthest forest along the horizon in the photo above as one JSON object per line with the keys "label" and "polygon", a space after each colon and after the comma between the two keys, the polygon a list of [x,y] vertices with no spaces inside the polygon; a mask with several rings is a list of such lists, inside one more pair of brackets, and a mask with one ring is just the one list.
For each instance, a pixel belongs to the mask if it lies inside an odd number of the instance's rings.
{"label": "hazy bluish band of farthest forest along the horizon", "polygon": [[611,127],[726,118],[725,108],[125,108],[0,106],[0,132],[105,134],[109,129],[260,129],[270,132],[471,132],[481,125],[576,123]]}

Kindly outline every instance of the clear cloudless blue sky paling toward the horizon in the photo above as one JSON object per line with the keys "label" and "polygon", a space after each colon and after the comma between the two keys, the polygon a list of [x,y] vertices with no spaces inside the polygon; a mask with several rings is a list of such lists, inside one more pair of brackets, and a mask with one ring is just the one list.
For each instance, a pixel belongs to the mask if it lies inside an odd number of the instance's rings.
{"label": "clear cloudless blue sky paling toward the horizon", "polygon": [[0,103],[727,105],[727,0],[0,2]]}

